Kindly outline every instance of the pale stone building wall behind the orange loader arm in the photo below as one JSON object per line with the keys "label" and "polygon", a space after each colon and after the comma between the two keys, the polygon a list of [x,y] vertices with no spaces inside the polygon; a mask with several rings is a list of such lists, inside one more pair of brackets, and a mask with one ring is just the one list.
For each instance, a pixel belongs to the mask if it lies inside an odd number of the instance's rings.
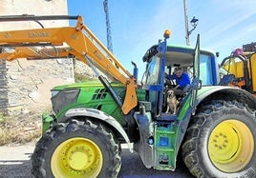
{"label": "pale stone building wall behind the orange loader arm", "polygon": [[[66,0],[1,0],[0,15],[65,15]],[[45,28],[68,26],[68,21],[42,21]],[[0,22],[0,30],[38,29],[35,22]],[[4,49],[5,50],[5,49]],[[51,107],[53,86],[74,82],[72,59],[0,60],[0,113],[41,112]]]}

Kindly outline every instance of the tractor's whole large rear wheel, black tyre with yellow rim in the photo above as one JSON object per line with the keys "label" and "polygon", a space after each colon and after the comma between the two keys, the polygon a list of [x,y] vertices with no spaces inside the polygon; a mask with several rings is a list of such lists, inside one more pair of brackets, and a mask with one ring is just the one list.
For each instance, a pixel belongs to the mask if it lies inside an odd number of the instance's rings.
{"label": "tractor's whole large rear wheel, black tyre with yellow rim", "polygon": [[256,177],[255,111],[236,101],[216,100],[193,116],[182,158],[195,177]]}

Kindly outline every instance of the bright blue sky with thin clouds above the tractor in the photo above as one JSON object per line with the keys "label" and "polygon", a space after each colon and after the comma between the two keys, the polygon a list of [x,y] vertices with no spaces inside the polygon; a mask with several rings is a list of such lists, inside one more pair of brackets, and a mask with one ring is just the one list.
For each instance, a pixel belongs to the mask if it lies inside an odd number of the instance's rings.
{"label": "bright blue sky with thin clouds above the tractor", "polygon": [[[130,61],[135,61],[139,74],[144,70],[142,56],[146,49],[162,39],[162,33],[172,31],[168,44],[185,45],[184,10],[182,0],[108,0],[113,52],[132,73]],[[187,0],[188,20],[199,19],[190,35],[195,46],[201,35],[201,47],[220,52],[219,61],[233,49],[256,41],[255,0]],[[107,46],[103,0],[68,0],[70,15],[80,14],[85,24]],[[189,30],[192,27],[189,24]]]}

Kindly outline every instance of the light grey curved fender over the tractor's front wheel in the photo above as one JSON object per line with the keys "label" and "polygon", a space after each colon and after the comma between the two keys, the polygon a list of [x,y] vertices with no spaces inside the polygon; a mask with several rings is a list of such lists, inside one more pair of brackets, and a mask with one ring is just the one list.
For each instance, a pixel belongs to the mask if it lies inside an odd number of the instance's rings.
{"label": "light grey curved fender over the tractor's front wheel", "polygon": [[100,121],[103,121],[110,126],[112,126],[116,131],[124,138],[126,141],[129,149],[131,152],[133,152],[133,147],[131,145],[130,139],[128,135],[126,134],[125,130],[121,127],[121,125],[117,122],[117,120],[112,117],[111,115],[98,110],[98,109],[86,109],[86,108],[80,108],[80,109],[69,109],[65,113],[66,118],[71,118],[75,116],[87,116],[87,117],[94,117]]}

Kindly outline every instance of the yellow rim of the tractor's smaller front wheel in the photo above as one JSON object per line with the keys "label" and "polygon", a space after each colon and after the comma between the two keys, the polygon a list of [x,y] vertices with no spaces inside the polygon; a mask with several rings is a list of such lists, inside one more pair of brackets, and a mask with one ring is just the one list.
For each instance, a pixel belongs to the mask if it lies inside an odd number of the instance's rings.
{"label": "yellow rim of the tractor's smaller front wheel", "polygon": [[96,177],[103,165],[101,150],[92,140],[75,137],[60,144],[53,152],[54,177]]}

